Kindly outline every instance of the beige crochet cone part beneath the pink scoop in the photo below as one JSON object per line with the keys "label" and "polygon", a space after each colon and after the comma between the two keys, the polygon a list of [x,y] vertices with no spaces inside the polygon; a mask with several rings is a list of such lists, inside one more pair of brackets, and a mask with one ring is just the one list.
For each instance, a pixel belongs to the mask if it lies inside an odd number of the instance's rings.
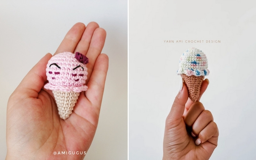
{"label": "beige crochet cone part beneath the pink scoop", "polygon": [[72,113],[74,106],[76,105],[76,101],[80,93],[78,92],[63,92],[63,91],[52,91],[60,118],[67,119],[69,115]]}

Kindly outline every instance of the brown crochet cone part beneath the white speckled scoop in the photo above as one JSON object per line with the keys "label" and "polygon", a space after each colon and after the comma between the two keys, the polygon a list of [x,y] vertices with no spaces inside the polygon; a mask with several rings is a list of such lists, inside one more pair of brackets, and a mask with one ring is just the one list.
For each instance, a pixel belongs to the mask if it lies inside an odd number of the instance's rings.
{"label": "brown crochet cone part beneath the white speckled scoop", "polygon": [[195,102],[198,99],[204,76],[187,76],[182,74],[181,77],[188,88],[188,97]]}

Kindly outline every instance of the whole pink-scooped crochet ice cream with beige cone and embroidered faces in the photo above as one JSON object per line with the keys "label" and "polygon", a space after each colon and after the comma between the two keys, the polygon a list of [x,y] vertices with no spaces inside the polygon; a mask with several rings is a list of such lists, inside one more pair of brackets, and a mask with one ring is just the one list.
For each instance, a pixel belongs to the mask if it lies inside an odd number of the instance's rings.
{"label": "whole pink-scooped crochet ice cream with beige cone and embroidered faces", "polygon": [[86,91],[88,58],[76,52],[63,52],[52,56],[46,67],[46,76],[49,83],[45,89],[52,90],[60,118],[67,119],[80,92]]}

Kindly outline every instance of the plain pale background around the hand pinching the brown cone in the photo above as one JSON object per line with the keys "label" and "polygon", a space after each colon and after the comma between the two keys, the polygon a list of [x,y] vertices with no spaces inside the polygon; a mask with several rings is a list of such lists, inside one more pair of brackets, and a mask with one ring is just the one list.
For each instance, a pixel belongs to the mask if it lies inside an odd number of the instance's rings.
{"label": "plain pale background around the hand pinching the brown cone", "polygon": [[162,159],[179,58],[191,47],[208,58],[210,84],[201,102],[220,131],[211,159],[256,159],[255,28],[254,1],[129,0],[129,159]]}

